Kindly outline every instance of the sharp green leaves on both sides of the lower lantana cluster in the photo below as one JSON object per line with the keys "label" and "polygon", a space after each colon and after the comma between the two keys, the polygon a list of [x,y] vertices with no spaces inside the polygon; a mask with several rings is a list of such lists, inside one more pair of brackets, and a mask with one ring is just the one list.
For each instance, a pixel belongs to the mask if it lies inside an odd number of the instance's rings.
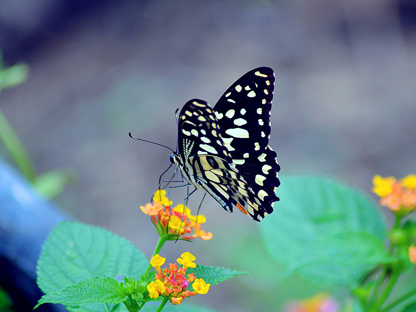
{"label": "sharp green leaves on both sides of the lower lantana cluster", "polygon": [[[125,310],[120,305],[124,303],[129,311],[139,311],[144,303],[163,299],[148,297],[146,285],[155,273],[146,274],[146,267],[148,261],[129,241],[104,229],[61,222],[49,234],[38,261],[37,283],[47,294],[36,307],[61,303],[69,311],[105,312]],[[190,273],[211,285],[246,274],[199,264],[188,268]],[[124,282],[116,280],[124,276]]]}

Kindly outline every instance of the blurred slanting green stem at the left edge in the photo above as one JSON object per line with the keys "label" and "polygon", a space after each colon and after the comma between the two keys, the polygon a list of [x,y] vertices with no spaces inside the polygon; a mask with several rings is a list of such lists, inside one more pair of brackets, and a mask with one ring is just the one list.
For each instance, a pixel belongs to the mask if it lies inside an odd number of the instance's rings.
{"label": "blurred slanting green stem at the left edge", "polygon": [[33,182],[35,180],[35,167],[30,160],[26,150],[20,142],[19,137],[7,122],[3,113],[0,111],[0,139],[12,155],[23,176]]}

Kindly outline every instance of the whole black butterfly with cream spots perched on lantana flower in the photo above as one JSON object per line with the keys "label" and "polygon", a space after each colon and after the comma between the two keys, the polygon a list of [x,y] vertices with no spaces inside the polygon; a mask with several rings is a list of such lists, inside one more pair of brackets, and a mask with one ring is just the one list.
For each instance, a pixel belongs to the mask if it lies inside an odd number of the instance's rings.
{"label": "whole black butterfly with cream spots perched on lantana flower", "polygon": [[275,74],[259,67],[244,74],[213,108],[191,99],[178,121],[178,152],[170,161],[228,212],[236,206],[260,221],[273,212],[280,182],[276,152],[268,145]]}

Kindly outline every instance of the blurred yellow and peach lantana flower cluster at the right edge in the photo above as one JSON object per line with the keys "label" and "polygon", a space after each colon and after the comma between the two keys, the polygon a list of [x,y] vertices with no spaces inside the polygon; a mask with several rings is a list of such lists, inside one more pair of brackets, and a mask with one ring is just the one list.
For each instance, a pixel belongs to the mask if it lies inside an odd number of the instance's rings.
{"label": "blurred yellow and peach lantana flower cluster at the right edge", "polygon": [[380,206],[396,214],[406,215],[416,209],[416,175],[409,174],[401,180],[376,175],[372,191],[380,196]]}

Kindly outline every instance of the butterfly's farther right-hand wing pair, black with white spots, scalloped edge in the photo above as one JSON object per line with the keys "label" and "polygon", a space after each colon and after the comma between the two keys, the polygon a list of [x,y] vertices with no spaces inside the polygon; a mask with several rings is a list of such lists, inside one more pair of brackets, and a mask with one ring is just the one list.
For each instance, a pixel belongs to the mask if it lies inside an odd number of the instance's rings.
{"label": "butterfly's farther right-hand wing pair, black with white spots, scalloped edge", "polygon": [[256,195],[254,201],[260,202],[261,217],[273,212],[279,200],[275,192],[280,167],[268,146],[274,88],[273,70],[256,68],[234,82],[213,108],[232,162]]}

